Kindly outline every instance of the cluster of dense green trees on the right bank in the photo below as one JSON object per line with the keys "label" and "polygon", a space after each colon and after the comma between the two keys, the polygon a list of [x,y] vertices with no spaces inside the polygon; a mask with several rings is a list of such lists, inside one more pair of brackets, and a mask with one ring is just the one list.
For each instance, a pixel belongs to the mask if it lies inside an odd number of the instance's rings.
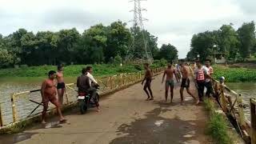
{"label": "cluster of dense green trees on the right bank", "polygon": [[223,25],[219,30],[194,34],[187,58],[192,60],[213,58],[214,53],[225,53],[230,60],[245,60],[256,52],[254,22],[244,23],[238,30],[232,24]]}

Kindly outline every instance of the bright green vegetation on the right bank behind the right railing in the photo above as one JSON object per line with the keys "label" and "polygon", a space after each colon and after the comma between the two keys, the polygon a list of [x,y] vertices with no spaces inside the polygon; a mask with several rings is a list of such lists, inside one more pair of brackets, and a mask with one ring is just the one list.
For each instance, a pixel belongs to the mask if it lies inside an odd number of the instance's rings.
{"label": "bright green vegetation on the right bank behind the right railing", "polygon": [[230,68],[215,65],[214,78],[219,79],[224,76],[226,82],[256,82],[256,69]]}

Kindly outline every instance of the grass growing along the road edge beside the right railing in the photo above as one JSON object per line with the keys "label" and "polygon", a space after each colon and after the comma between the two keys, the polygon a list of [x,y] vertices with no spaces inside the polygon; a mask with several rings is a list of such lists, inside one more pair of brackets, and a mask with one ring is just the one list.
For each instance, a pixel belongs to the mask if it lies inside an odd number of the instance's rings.
{"label": "grass growing along the road edge beside the right railing", "polygon": [[228,134],[228,124],[222,114],[215,112],[214,102],[209,98],[204,100],[206,110],[209,112],[210,118],[207,123],[207,134],[209,134],[216,144],[233,144],[230,134]]}

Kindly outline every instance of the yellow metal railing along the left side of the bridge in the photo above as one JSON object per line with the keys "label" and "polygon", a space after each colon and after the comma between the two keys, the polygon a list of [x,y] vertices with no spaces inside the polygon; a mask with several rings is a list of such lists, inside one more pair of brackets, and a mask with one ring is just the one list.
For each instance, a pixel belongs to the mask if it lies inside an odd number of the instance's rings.
{"label": "yellow metal railing along the left side of the bridge", "polygon": [[[162,73],[164,68],[153,69],[153,74]],[[142,81],[144,74],[142,71],[138,73],[116,74],[110,77],[96,78],[100,85],[100,95],[111,93],[122,87],[130,86],[136,82]],[[70,106],[77,102],[77,87],[75,83],[66,84],[66,91],[63,98],[63,107]],[[11,107],[13,122],[19,122],[27,118],[38,116],[42,112],[42,98],[40,90],[30,90],[11,95]],[[49,111],[55,111],[54,106],[50,103]],[[1,106],[0,106],[1,112]],[[54,112],[54,113],[55,113]],[[0,113],[1,114],[1,113]],[[13,123],[12,122],[12,123]],[[3,126],[9,123],[3,123],[0,115],[0,124]]]}

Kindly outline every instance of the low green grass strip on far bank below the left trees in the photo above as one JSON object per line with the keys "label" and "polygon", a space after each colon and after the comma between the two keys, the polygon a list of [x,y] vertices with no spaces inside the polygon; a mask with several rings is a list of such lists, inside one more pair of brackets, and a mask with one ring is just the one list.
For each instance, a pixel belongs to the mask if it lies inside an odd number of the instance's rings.
{"label": "low green grass strip on far bank below the left trees", "polygon": [[[121,73],[133,73],[143,70],[142,65],[123,65],[118,66],[114,64],[94,64],[90,65],[94,68],[94,75],[98,76],[110,76]],[[151,68],[162,66],[161,63],[154,63]],[[81,74],[82,68],[86,65],[71,65],[64,67],[64,74],[66,77],[78,76]],[[19,78],[19,77],[46,77],[47,72],[50,70],[56,70],[56,66],[22,66],[20,68],[9,68],[0,70],[0,78]]]}

